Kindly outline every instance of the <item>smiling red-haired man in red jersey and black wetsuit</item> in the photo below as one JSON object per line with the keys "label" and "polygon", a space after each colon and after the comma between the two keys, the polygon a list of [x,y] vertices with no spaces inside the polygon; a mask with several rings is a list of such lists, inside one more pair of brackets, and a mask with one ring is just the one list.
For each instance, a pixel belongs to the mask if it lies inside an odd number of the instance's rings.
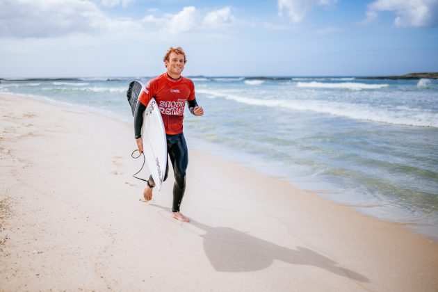
{"label": "smiling red-haired man in red jersey and black wetsuit", "polygon": [[[186,169],[188,165],[188,150],[183,133],[184,106],[187,102],[190,113],[197,116],[204,115],[204,110],[197,105],[193,81],[181,76],[187,62],[183,49],[181,47],[170,47],[163,61],[167,72],[149,81],[138,97],[139,102],[134,113],[136,142],[138,151],[143,152],[143,140],[141,138],[143,112],[149,101],[154,97],[159,105],[161,117],[163,117],[168,155],[175,175],[172,217],[183,222],[189,222],[188,218],[179,211],[186,190]],[[164,180],[167,179],[168,172],[169,165],[166,166]],[[151,176],[143,191],[146,201],[152,199],[154,186],[154,179]]]}

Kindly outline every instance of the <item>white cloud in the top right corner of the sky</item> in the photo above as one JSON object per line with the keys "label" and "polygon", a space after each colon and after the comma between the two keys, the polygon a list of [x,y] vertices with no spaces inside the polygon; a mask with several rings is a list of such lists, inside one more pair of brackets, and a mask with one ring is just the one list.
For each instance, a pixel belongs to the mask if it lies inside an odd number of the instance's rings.
{"label": "white cloud in the top right corner of the sky", "polygon": [[366,19],[372,22],[379,12],[395,13],[396,26],[433,26],[438,24],[438,0],[376,0],[368,5]]}

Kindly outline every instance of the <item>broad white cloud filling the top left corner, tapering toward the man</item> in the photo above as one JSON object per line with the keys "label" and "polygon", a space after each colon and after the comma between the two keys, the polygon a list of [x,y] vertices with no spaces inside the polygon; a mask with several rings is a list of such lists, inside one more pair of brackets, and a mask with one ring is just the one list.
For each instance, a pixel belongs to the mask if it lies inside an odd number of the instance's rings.
{"label": "broad white cloud filling the top left corner, tapering toward the man", "polygon": [[129,19],[107,17],[92,1],[0,0],[0,7],[0,38],[51,38],[141,29]]}

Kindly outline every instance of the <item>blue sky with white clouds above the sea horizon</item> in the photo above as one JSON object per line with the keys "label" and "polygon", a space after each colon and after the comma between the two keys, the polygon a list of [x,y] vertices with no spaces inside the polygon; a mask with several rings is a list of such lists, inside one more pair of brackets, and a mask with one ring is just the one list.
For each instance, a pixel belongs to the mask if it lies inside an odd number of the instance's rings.
{"label": "blue sky with white clouds above the sea horizon", "polygon": [[438,72],[438,0],[0,0],[0,78]]}

